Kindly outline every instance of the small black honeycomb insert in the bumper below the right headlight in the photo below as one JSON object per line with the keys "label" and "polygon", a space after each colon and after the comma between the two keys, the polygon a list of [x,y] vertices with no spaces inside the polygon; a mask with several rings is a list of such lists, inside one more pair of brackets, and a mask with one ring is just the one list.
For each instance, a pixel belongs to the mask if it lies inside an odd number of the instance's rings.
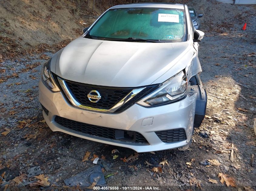
{"label": "small black honeycomb insert in the bumper below the right headlight", "polygon": [[156,131],[156,135],[165,143],[185,141],[187,139],[184,129],[171,129],[166,131]]}

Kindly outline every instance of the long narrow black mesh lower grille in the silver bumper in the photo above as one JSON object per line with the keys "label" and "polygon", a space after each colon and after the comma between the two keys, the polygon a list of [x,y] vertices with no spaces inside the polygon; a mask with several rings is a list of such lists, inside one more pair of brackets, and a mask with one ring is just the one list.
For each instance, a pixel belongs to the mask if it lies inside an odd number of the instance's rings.
{"label": "long narrow black mesh lower grille in the silver bumper", "polygon": [[55,122],[63,127],[77,132],[85,133],[87,135],[125,142],[148,143],[143,135],[135,131],[125,131],[120,129],[90,125],[87,123],[66,119],[60,116],[55,116]]}

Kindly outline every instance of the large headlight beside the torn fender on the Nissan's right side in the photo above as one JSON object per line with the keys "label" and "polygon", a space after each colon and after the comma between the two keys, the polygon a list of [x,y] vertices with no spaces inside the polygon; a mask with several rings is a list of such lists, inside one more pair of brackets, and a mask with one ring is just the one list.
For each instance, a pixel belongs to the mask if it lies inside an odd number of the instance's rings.
{"label": "large headlight beside the torn fender on the Nissan's right side", "polygon": [[177,101],[185,96],[188,80],[183,71],[166,80],[160,88],[137,103],[153,107]]}

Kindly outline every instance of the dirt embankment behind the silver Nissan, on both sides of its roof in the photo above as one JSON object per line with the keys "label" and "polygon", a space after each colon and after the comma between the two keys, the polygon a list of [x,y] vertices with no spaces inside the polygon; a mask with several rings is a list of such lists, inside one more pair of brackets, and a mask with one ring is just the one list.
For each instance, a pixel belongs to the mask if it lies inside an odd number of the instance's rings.
{"label": "dirt embankment behind the silver Nissan, on both sides of its roof", "polygon": [[[80,36],[81,30],[90,26],[107,8],[131,2],[136,1],[95,0],[95,6],[93,6],[93,0],[3,0],[0,3],[0,12],[2,13],[0,15],[0,54],[5,60],[19,54],[31,54],[35,46],[38,45],[46,45],[44,49],[52,49],[47,45],[62,42],[61,46],[57,46],[53,51],[56,52],[57,49]],[[242,14],[242,11],[246,10],[245,8],[241,9],[236,5],[223,4],[213,0],[178,0],[175,2],[194,6],[198,13],[204,14],[204,17],[201,18],[204,31],[233,27],[232,20],[225,21],[233,16],[241,18],[238,21],[242,24],[250,15],[246,11]],[[27,51],[27,49],[30,50]]]}

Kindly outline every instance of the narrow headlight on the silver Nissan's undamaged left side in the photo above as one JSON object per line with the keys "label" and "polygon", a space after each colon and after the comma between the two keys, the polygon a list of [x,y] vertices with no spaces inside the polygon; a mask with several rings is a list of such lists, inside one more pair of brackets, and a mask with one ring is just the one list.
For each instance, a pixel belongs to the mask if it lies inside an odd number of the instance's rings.
{"label": "narrow headlight on the silver Nissan's undamaged left side", "polygon": [[42,82],[45,84],[45,86],[49,90],[53,92],[60,91],[60,89],[58,88],[58,86],[56,85],[52,77],[52,73],[50,72],[50,62],[51,62],[51,59],[45,62],[42,67],[42,74],[41,74]]}

